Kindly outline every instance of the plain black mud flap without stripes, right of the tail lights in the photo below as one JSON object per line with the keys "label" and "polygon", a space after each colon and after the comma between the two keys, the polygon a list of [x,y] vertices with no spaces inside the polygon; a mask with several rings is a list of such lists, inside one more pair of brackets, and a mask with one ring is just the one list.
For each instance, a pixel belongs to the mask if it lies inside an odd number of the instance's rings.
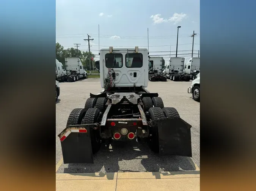
{"label": "plain black mud flap without stripes, right of the tail lights", "polygon": [[190,128],[179,117],[159,119],[159,154],[192,157]]}

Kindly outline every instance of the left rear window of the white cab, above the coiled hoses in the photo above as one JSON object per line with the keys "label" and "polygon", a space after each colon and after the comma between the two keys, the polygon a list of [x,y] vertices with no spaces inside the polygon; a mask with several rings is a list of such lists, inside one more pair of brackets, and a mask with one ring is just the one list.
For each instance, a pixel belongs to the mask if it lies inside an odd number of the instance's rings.
{"label": "left rear window of the white cab, above the coiled hoses", "polygon": [[120,54],[120,53],[105,54],[105,65],[107,68],[122,68],[123,54]]}

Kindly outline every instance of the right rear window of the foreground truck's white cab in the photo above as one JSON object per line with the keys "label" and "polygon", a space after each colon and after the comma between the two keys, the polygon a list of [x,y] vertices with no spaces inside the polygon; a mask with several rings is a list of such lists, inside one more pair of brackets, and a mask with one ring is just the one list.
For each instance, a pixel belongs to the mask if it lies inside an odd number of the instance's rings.
{"label": "right rear window of the foreground truck's white cab", "polygon": [[141,53],[127,53],[125,55],[125,65],[127,68],[141,68],[143,55]]}

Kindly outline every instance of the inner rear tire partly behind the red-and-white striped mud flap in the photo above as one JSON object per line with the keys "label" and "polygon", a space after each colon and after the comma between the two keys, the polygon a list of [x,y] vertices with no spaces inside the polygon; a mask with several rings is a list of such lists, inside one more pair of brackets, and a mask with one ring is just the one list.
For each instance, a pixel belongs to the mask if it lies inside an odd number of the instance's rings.
{"label": "inner rear tire partly behind the red-and-white striped mud flap", "polygon": [[[83,117],[81,124],[92,124],[92,123],[99,123],[101,119],[99,119],[100,110],[98,108],[89,108],[86,111],[85,117]],[[90,129],[90,136],[91,136],[91,149],[93,154],[99,151],[101,147],[101,136],[100,136],[100,129]]]}

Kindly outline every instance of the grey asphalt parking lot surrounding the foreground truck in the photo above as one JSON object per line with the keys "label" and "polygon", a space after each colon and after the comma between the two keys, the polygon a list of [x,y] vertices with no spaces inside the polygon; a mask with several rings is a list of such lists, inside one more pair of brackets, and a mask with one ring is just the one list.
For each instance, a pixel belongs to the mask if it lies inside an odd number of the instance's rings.
{"label": "grey asphalt parking lot surrounding the foreground truck", "polygon": [[200,103],[187,93],[190,82],[149,82],[148,90],[157,92],[165,107],[174,107],[183,120],[192,125],[192,159],[190,157],[154,154],[145,143],[126,142],[101,148],[94,155],[94,164],[63,164],[58,134],[66,127],[69,113],[74,108],[84,108],[90,93],[97,94],[102,88],[99,79],[60,83],[60,96],[56,103],[56,173],[94,172],[163,172],[192,171],[200,167]]}

